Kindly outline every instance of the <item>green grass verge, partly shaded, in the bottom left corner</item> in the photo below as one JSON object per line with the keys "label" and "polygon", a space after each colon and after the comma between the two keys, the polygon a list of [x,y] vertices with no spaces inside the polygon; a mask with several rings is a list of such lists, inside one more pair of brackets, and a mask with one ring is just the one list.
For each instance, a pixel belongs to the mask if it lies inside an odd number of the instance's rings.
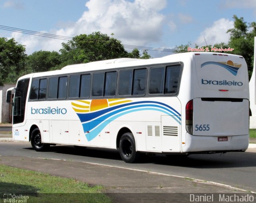
{"label": "green grass verge, partly shaded, in the bottom left corner", "polygon": [[111,199],[101,193],[103,190],[102,186],[91,187],[75,179],[0,165],[0,198],[10,198],[10,194],[15,194],[26,203],[110,203]]}

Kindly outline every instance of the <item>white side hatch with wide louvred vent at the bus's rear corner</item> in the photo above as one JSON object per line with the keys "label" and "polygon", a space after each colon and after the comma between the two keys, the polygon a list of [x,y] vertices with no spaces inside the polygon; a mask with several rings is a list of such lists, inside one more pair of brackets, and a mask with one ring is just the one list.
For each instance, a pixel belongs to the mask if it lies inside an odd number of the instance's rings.
{"label": "white side hatch with wide louvred vent at the bus's rear corner", "polygon": [[[177,117],[177,116],[175,116]],[[180,124],[171,115],[161,116],[162,151],[180,152]]]}

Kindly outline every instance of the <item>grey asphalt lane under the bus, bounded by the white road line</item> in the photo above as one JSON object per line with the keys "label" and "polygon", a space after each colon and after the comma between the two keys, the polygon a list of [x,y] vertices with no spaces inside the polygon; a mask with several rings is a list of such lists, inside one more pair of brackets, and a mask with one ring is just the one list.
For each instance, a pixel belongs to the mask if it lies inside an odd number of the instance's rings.
{"label": "grey asphalt lane under the bus, bounded by the white road line", "polygon": [[144,157],[140,163],[128,164],[121,160],[118,151],[110,149],[85,148],[78,151],[73,146],[56,145],[51,146],[48,151],[37,152],[32,149],[30,143],[0,142],[0,155],[112,165],[213,181],[256,192],[256,153],[251,152],[190,155],[186,158],[157,155]]}

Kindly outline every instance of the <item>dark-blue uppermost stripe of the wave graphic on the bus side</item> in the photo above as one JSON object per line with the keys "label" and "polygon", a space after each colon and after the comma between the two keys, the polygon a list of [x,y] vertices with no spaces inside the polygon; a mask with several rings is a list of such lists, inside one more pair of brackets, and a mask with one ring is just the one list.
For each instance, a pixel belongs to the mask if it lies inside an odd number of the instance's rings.
{"label": "dark-blue uppermost stripe of the wave graphic on the bus side", "polygon": [[95,119],[96,117],[99,117],[102,114],[108,113],[110,111],[113,111],[115,109],[119,109],[122,107],[126,107],[126,106],[130,106],[130,105],[135,105],[135,104],[140,104],[140,103],[156,103],[156,104],[160,104],[163,106],[166,106],[167,108],[170,109],[170,111],[172,111],[174,113],[174,115],[180,115],[180,113],[178,111],[176,111],[174,108],[170,107],[169,105],[165,104],[165,103],[161,103],[161,102],[152,102],[152,101],[143,101],[143,102],[132,102],[132,103],[124,103],[124,104],[120,104],[117,106],[113,106],[113,107],[109,107],[107,109],[102,109],[100,111],[96,111],[96,112],[92,112],[92,113],[76,113],[80,119],[81,122],[84,121],[90,121]]}

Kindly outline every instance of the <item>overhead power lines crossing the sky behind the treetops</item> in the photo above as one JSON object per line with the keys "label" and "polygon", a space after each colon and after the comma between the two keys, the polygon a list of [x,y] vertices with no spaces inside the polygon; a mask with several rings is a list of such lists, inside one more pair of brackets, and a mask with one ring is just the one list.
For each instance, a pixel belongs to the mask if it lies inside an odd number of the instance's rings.
{"label": "overhead power lines crossing the sky behind the treetops", "polygon": [[[24,30],[24,29],[20,29],[20,28],[13,28],[13,27],[3,26],[3,25],[0,25],[0,30],[19,32],[22,34],[30,34],[30,35],[34,35],[34,36],[52,38],[52,39],[57,39],[57,40],[70,41],[73,39],[73,37],[61,36],[61,35],[56,35],[56,34],[48,34],[48,33],[44,33],[44,32],[35,32],[32,30]],[[128,48],[128,49],[150,50],[150,51],[158,51],[158,52],[175,52],[175,51],[177,51],[175,49],[154,48],[154,47],[146,47],[146,46],[134,46],[134,45],[126,45],[126,44],[123,44],[123,46],[124,46],[124,48]]]}

